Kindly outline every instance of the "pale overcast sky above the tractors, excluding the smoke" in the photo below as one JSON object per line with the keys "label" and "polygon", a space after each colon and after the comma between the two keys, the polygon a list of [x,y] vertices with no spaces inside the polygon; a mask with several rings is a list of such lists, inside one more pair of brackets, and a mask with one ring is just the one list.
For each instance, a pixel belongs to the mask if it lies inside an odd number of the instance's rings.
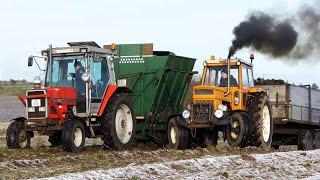
{"label": "pale overcast sky above the tractors, excluding the smoke", "polygon": [[[0,80],[32,80],[41,72],[27,67],[27,58],[70,41],[154,43],[197,59],[195,70],[210,55],[226,58],[232,29],[249,12],[290,13],[299,0],[3,0],[0,6]],[[248,59],[249,49],[237,57]],[[288,82],[320,84],[320,63],[309,59],[283,63],[256,54],[255,77],[282,78]],[[311,63],[313,60],[313,63]]]}

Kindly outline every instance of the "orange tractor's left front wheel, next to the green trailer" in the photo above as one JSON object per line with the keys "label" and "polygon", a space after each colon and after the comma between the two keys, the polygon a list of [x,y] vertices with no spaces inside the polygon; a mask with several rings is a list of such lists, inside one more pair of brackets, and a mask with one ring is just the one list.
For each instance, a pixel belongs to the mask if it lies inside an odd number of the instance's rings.
{"label": "orange tractor's left front wheel, next to the green trailer", "polygon": [[[174,128],[175,140],[172,139],[171,129]],[[168,147],[171,149],[189,149],[191,147],[190,130],[179,125],[175,118],[171,118],[168,124]]]}

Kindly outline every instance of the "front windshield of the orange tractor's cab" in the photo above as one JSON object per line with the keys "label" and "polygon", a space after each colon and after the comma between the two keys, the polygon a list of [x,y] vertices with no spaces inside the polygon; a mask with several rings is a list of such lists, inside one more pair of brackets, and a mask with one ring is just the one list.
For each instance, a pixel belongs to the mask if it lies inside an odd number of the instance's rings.
{"label": "front windshield of the orange tractor's cab", "polygon": [[[228,86],[227,66],[207,67],[204,73],[204,85],[220,87]],[[238,66],[231,66],[230,68],[230,85],[238,86]]]}

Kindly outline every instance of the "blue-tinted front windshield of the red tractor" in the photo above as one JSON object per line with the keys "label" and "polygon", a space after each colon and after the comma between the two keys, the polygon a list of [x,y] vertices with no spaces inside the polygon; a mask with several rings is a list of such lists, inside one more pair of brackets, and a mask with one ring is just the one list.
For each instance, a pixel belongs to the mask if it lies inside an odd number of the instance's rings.
{"label": "blue-tinted front windshield of the red tractor", "polygon": [[76,68],[84,72],[84,62],[83,56],[54,57],[48,66],[46,86],[75,87]]}

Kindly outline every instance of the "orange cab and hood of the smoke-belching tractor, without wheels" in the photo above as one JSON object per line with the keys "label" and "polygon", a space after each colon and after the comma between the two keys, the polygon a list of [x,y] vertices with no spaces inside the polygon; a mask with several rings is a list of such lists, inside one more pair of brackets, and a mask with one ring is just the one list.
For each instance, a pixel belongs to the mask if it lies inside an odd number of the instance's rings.
{"label": "orange cab and hood of the smoke-belching tractor, without wheels", "polygon": [[212,102],[213,108],[221,104],[232,110],[245,110],[247,93],[254,88],[253,66],[241,59],[215,59],[204,62],[201,83],[193,87],[193,103]]}

